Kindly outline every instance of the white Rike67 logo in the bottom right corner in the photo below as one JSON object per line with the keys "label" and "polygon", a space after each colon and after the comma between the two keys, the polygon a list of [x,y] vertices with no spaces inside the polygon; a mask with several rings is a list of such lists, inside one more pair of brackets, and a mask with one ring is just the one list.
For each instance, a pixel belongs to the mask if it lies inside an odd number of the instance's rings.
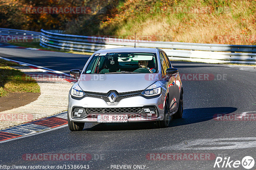
{"label": "white Rike67 logo in the bottom right corner", "polygon": [[[225,157],[222,159],[221,157],[217,157],[214,163],[214,168],[238,168],[241,165],[245,169],[251,169],[254,166],[254,159],[251,156],[245,156],[242,161],[240,160],[231,160],[230,157]],[[241,169],[241,168],[239,168]]]}

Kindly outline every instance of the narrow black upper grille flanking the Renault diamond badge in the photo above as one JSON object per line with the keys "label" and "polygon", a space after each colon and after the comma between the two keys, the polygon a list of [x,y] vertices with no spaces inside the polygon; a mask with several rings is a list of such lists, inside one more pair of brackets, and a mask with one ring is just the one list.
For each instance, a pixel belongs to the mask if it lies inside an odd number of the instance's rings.
{"label": "narrow black upper grille flanking the Renault diamond badge", "polygon": [[[125,92],[125,93],[116,93],[116,101],[115,102],[120,102],[122,99],[124,98],[128,98],[128,97],[135,97],[135,96],[140,96],[140,93],[142,91],[133,91],[133,92]],[[95,98],[100,98],[103,99],[105,102],[110,102],[108,99],[109,94],[111,93],[93,93],[93,92],[85,92],[87,97],[95,97]],[[110,96],[111,99],[113,100],[114,96]]]}

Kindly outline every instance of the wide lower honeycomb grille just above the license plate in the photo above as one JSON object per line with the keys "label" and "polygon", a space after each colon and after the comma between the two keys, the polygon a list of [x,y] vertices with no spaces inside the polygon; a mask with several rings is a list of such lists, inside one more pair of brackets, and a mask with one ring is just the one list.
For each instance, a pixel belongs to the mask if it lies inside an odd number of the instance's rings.
{"label": "wide lower honeycomb grille just above the license plate", "polygon": [[[144,108],[149,108],[150,111],[155,111],[156,114],[148,116],[148,112],[144,111]],[[79,109],[83,109],[83,113],[77,117],[75,115]],[[124,107],[124,108],[74,108],[72,116],[75,119],[83,119],[86,116],[95,116],[94,114],[128,114],[129,117],[137,117],[137,115],[144,118],[153,118],[157,116],[156,108],[153,106],[149,107]],[[77,114],[77,113],[76,113]],[[137,114],[137,115],[136,115]]]}

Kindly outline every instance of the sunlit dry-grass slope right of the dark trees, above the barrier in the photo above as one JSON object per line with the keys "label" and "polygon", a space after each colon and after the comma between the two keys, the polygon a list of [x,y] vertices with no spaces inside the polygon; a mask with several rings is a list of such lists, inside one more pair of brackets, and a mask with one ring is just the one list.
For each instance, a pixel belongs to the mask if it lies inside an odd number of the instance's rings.
{"label": "sunlit dry-grass slope right of the dark trees, above the barrier", "polygon": [[255,0],[120,0],[107,4],[112,8],[104,14],[87,16],[68,25],[66,31],[127,39],[136,32],[138,39],[145,40],[256,45]]}

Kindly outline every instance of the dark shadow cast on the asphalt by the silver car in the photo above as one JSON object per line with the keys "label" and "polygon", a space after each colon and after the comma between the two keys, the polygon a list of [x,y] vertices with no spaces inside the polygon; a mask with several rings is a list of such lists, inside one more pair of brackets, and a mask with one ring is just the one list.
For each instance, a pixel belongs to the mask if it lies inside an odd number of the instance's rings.
{"label": "dark shadow cast on the asphalt by the silver car", "polygon": [[[212,107],[212,108],[194,108],[184,109],[183,118],[173,119],[169,127],[181,126],[185,124],[193,124],[211,120],[217,114],[229,114],[237,109],[234,107]],[[90,128],[84,128],[84,131],[129,131],[129,130],[145,130],[156,129],[154,122],[138,122],[138,123],[100,123]]]}

